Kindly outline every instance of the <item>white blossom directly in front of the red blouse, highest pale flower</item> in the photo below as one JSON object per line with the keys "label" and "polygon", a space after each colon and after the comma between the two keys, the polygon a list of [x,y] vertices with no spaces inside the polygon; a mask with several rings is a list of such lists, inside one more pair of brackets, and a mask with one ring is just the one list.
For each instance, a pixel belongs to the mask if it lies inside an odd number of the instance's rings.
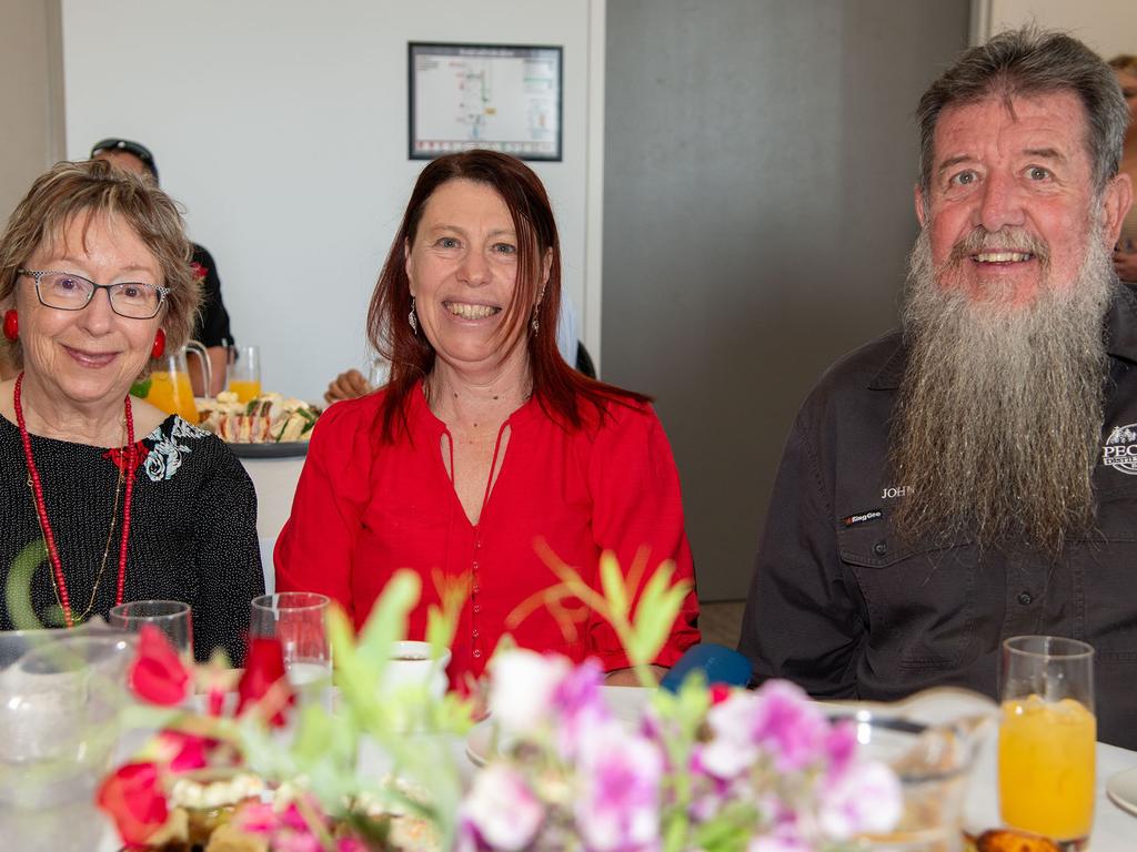
{"label": "white blossom directly in front of the red blouse, highest pale flower", "polygon": [[503,732],[525,734],[550,719],[557,686],[571,673],[563,657],[515,649],[490,661],[490,716]]}

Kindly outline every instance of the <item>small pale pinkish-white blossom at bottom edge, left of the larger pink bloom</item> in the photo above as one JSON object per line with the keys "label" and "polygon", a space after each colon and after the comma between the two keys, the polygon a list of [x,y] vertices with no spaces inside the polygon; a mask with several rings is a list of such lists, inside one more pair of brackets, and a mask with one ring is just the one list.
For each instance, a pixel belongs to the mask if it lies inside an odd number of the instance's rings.
{"label": "small pale pinkish-white blossom at bottom edge, left of the larger pink bloom", "polygon": [[474,777],[462,817],[467,828],[472,827],[493,849],[521,850],[541,827],[545,807],[521,775],[491,763]]}

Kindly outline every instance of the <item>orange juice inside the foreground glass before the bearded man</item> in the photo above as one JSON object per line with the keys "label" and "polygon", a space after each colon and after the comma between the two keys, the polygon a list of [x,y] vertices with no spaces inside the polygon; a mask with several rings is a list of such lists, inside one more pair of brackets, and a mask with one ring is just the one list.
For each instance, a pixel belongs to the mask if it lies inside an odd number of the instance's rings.
{"label": "orange juice inside the foreground glass before the bearded man", "polygon": [[998,794],[1003,821],[1056,841],[1087,837],[1094,821],[1094,713],[1073,699],[1003,702]]}

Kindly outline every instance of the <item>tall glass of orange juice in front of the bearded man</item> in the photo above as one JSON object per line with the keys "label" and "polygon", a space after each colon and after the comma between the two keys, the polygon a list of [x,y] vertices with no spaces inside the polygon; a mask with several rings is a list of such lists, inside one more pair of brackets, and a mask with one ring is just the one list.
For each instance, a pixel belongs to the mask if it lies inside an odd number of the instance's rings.
{"label": "tall glass of orange juice in front of the bearded man", "polygon": [[1003,821],[1084,849],[1094,822],[1094,649],[1060,636],[1009,638],[1001,683]]}

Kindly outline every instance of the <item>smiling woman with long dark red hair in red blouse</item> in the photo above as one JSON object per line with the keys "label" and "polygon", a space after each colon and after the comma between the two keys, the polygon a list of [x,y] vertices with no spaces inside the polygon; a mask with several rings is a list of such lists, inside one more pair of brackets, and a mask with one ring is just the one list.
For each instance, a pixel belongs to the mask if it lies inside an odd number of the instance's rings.
{"label": "smiling woman with long dark red hair in red blouse", "polygon": [[[412,638],[439,602],[435,569],[468,583],[451,683],[480,675],[508,616],[557,584],[539,541],[597,590],[605,550],[624,570],[641,551],[650,569],[673,560],[694,582],[678,471],[647,398],[557,353],[559,251],[521,160],[475,150],[423,169],[368,312],[390,382],[319,418],[276,544],[277,590],[327,594],[357,626],[397,569],[417,570]],[[612,628],[568,609],[584,619],[575,635],[543,604],[509,633],[632,682]],[[697,615],[692,590],[659,667],[698,641]]]}

